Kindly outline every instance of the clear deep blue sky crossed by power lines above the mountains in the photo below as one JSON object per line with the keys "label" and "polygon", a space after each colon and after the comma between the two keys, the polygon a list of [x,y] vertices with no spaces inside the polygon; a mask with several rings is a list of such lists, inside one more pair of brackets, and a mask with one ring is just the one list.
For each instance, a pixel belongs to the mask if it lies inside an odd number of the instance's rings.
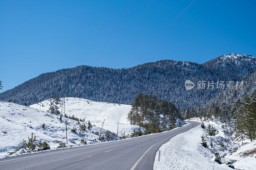
{"label": "clear deep blue sky crossed by power lines above the mountains", "polygon": [[[102,66],[152,0],[134,0],[94,66]],[[0,80],[11,89],[44,72],[92,65],[132,0],[0,0]],[[103,65],[122,68],[193,0],[154,0]],[[130,66],[172,59],[204,63],[256,55],[256,1],[196,0]]]}

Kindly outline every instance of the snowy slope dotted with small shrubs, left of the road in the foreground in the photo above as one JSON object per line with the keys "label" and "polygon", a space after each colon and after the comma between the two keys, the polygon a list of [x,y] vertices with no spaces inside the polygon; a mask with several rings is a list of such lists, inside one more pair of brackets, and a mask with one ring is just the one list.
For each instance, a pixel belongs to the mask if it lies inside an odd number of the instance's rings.
{"label": "snowy slope dotted with small shrubs, left of the road in the foreground", "polygon": [[[60,142],[66,142],[66,127],[64,121],[68,122],[68,144],[79,145],[80,140],[84,139],[87,143],[93,142],[93,139],[99,138],[94,132],[100,132],[100,128],[93,126],[92,129],[86,129],[83,135],[75,134],[71,131],[73,127],[79,129],[79,124],[75,120],[50,114],[38,109],[14,104],[11,102],[0,101],[0,157],[6,155],[6,147],[12,152],[18,144],[28,137],[31,133],[39,140],[46,140],[50,144],[51,149],[57,148]],[[45,128],[42,124],[45,123]],[[82,122],[81,122],[82,123]],[[102,134],[106,130],[103,129]],[[118,137],[114,137],[118,139]],[[98,141],[100,142],[100,141]]]}

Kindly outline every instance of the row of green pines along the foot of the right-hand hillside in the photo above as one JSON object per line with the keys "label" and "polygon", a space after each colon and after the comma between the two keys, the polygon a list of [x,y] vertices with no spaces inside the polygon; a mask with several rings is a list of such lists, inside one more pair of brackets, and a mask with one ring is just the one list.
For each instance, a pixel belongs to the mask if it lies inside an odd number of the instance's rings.
{"label": "row of green pines along the foot of the right-hand hillside", "polygon": [[234,131],[244,133],[249,139],[256,139],[256,90],[244,99],[236,99],[234,102],[225,101],[211,103],[187,109],[185,118],[204,117],[208,120],[219,119],[223,123],[226,133]]}

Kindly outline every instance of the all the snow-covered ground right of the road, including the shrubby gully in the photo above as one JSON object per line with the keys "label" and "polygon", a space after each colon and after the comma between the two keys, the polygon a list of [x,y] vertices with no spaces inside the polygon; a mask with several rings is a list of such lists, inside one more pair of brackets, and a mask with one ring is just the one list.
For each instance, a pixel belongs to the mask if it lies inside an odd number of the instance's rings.
{"label": "all the snow-covered ground right of the road, including the shrubby gully", "polygon": [[[200,119],[192,119],[201,122]],[[211,124],[219,133],[216,136],[206,136],[206,142],[209,148],[203,147],[201,136],[205,133],[201,126],[197,126],[188,132],[173,137],[171,142],[163,144],[159,150],[161,151],[160,162],[158,162],[158,152],[154,162],[154,170],[167,169],[232,169],[225,162],[232,159],[236,169],[256,169],[256,141],[249,142],[247,139],[236,140],[237,138],[229,137],[222,131],[220,122],[207,121],[204,122],[207,127]],[[232,140],[233,139],[233,140]],[[210,146],[212,141],[213,147]],[[221,142],[225,145],[225,149],[220,146]],[[242,142],[248,142],[242,145]],[[224,146],[223,145],[223,146]],[[214,153],[219,152],[222,164],[214,163]]]}

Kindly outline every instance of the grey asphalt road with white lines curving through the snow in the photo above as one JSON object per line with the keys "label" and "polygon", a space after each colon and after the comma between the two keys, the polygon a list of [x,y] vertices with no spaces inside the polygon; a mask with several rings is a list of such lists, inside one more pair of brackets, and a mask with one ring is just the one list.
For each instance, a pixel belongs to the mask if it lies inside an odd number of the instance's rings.
{"label": "grey asphalt road with white lines curving through the snow", "polygon": [[0,169],[150,170],[162,144],[200,124],[190,123],[144,137],[0,159]]}

